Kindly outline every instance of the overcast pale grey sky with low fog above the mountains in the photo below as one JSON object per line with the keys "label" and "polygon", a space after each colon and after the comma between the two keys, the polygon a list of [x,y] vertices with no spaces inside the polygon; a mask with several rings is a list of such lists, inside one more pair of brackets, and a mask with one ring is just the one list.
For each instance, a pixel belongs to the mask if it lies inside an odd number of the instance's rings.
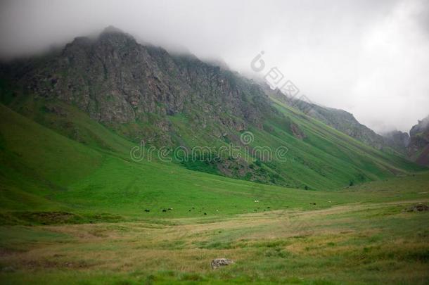
{"label": "overcast pale grey sky with low fog above the mountains", "polygon": [[0,56],[20,56],[108,25],[184,46],[252,75],[264,51],[314,103],[376,132],[408,132],[429,115],[429,1],[0,0]]}

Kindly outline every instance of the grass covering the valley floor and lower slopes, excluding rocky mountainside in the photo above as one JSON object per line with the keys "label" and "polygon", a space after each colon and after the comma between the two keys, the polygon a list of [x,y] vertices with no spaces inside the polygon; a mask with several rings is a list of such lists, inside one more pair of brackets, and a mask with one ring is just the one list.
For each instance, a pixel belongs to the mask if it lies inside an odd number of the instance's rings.
{"label": "grass covering the valley floor and lower slopes, excluding rocky mountainside", "polygon": [[[289,187],[257,184],[134,162],[134,143],[47,103],[0,106],[2,284],[428,283],[428,212],[404,210],[428,203],[429,172],[402,158],[279,105],[306,137],[250,128],[252,145],[290,150],[255,161]],[[236,264],[210,270],[219,257]]]}

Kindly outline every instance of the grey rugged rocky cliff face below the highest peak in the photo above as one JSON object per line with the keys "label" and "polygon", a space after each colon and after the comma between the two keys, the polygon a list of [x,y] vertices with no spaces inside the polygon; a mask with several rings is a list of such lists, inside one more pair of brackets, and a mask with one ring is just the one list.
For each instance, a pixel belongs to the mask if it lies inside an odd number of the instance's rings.
{"label": "grey rugged rocky cliff face below the highest peak", "polygon": [[72,103],[105,125],[151,120],[164,133],[155,144],[171,143],[165,137],[169,115],[193,113],[201,126],[213,121],[241,130],[247,124],[261,127],[263,113],[270,110],[264,92],[250,80],[192,55],[172,56],[143,46],[114,27],[96,39],[78,37],[56,55],[13,63],[8,70],[30,93]]}

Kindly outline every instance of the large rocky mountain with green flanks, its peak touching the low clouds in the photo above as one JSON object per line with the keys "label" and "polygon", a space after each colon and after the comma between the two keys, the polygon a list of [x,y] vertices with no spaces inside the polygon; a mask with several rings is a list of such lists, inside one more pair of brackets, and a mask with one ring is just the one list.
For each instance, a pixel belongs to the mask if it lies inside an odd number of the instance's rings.
{"label": "large rocky mountain with green flanks, its peak touching the low clouds", "polygon": [[[181,161],[190,170],[301,189],[334,189],[419,170],[336,132],[287,104],[272,101],[260,84],[192,55],[138,44],[109,30],[78,37],[60,53],[2,68],[1,101],[60,134],[105,148],[68,113],[76,106],[116,134],[147,146],[192,149],[288,149],[288,163],[260,154],[219,161]],[[62,103],[61,103],[62,102]],[[89,122],[85,123],[86,125]],[[100,145],[101,144],[101,145]],[[107,148],[108,149],[108,148]]]}

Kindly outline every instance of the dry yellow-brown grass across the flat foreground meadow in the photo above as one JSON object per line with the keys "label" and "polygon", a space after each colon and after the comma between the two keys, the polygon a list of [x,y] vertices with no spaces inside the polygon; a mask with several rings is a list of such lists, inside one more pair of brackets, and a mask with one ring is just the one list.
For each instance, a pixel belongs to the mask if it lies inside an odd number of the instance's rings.
{"label": "dry yellow-brown grass across the flat foreground meadow", "polygon": [[[150,276],[168,283],[196,274],[189,278],[425,284],[429,215],[407,213],[402,211],[405,207],[406,203],[353,204],[219,221],[40,226],[42,232],[60,236],[20,242],[20,251],[2,254],[0,262],[16,270],[18,281],[27,272],[51,274],[53,280],[60,280],[58,272],[100,272],[124,275],[130,282]],[[236,264],[213,272],[210,260],[221,257]]]}

